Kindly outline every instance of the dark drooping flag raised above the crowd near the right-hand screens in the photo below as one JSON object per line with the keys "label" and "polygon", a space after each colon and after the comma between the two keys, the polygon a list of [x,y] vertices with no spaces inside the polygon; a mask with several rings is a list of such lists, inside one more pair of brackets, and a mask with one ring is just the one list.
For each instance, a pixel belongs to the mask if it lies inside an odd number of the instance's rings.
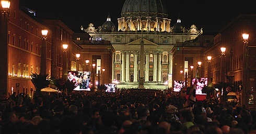
{"label": "dark drooping flag raised above the crowd near the right-hand screens", "polygon": [[184,108],[193,107],[196,102],[195,91],[196,91],[197,78],[198,78],[198,68],[196,69],[195,82],[193,84],[193,87],[191,87],[190,89],[189,97],[184,104]]}

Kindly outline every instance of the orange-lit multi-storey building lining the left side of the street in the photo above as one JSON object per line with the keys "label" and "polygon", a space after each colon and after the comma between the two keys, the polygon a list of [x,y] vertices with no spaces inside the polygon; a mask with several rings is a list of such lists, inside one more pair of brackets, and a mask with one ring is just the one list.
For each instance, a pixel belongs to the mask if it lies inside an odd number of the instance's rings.
{"label": "orange-lit multi-storey building lining the left side of the street", "polygon": [[[45,72],[52,79],[62,78],[63,60],[68,70],[76,70],[76,53],[80,47],[72,42],[73,31],[59,20],[40,20],[34,10],[21,6],[19,1],[1,8],[8,16],[1,17],[1,77],[0,92],[7,96],[13,92],[32,96],[35,90],[31,73],[40,74],[43,36],[48,30],[45,48]],[[7,17],[7,18],[6,18]],[[6,36],[2,36],[6,35]],[[67,59],[63,59],[62,44],[68,44]]]}

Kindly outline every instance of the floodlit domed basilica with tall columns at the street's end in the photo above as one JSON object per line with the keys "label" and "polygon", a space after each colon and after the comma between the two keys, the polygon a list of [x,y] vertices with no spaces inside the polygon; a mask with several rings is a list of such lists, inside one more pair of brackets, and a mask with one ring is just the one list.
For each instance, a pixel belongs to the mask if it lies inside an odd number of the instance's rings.
{"label": "floodlit domed basilica with tall columns at the street's end", "polygon": [[166,6],[160,0],[126,0],[117,21],[116,27],[108,16],[100,26],[90,23],[87,28],[81,26],[80,29],[92,40],[111,42],[115,50],[112,81],[119,81],[126,87],[131,85],[129,88],[137,88],[141,78],[144,88],[148,88],[147,85],[158,85],[156,88],[159,88],[166,82],[172,87],[173,46],[203,33],[194,24],[185,29],[179,18],[172,25]]}

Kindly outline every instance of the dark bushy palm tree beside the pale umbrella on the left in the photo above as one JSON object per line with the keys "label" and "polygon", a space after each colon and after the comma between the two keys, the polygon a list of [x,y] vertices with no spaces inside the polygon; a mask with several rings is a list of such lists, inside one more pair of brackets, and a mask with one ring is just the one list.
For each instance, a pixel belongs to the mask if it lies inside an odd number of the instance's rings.
{"label": "dark bushy palm tree beside the pale umbrella on the left", "polygon": [[50,75],[42,75],[37,73],[32,73],[31,75],[31,82],[33,83],[34,87],[36,88],[36,92],[34,93],[34,97],[41,96],[41,89],[48,87],[51,83]]}

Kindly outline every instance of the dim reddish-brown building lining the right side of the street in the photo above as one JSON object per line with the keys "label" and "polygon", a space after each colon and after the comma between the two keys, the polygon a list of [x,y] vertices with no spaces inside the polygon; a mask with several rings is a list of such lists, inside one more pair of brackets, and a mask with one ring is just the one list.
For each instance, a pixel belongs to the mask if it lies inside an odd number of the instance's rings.
{"label": "dim reddish-brown building lining the right side of the street", "polygon": [[[208,71],[212,83],[233,84],[241,104],[249,107],[255,105],[255,21],[255,15],[239,15],[214,36],[214,45],[205,50],[206,56],[213,57]],[[246,41],[244,33],[249,34]],[[221,47],[226,48],[224,56]]]}

